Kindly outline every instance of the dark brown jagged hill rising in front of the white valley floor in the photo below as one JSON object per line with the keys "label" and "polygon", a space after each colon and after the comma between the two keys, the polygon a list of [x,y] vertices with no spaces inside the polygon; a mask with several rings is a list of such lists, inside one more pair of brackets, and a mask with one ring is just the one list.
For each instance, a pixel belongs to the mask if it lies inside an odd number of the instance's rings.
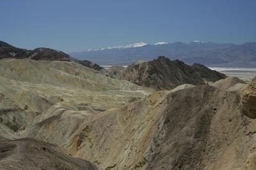
{"label": "dark brown jagged hill rising in front of the white valley floor", "polygon": [[173,89],[181,84],[202,85],[225,79],[225,75],[203,65],[186,65],[163,56],[153,61],[140,61],[122,71],[120,79],[157,90]]}

